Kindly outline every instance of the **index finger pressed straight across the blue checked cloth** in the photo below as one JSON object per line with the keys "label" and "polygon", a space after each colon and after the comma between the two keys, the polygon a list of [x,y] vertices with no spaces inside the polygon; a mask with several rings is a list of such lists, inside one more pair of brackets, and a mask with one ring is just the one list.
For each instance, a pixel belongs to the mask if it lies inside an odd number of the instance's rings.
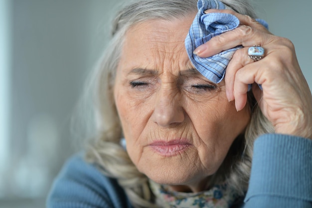
{"label": "index finger pressed straight across the blue checked cloth", "polygon": [[198,46],[194,53],[200,57],[210,57],[238,45],[244,47],[252,45],[265,45],[272,41],[273,35],[259,31],[247,25],[212,37],[206,43]]}

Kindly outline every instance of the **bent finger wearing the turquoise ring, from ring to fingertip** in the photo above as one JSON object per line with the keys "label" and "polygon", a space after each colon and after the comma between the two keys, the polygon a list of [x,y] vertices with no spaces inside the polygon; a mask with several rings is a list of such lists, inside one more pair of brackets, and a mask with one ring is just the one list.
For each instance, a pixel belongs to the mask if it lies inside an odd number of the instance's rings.
{"label": "bent finger wearing the turquoise ring, from ring to fingertip", "polygon": [[228,101],[234,100],[234,79],[236,72],[245,65],[254,62],[249,58],[248,47],[244,47],[235,51],[231,61],[229,62],[225,72],[225,88]]}

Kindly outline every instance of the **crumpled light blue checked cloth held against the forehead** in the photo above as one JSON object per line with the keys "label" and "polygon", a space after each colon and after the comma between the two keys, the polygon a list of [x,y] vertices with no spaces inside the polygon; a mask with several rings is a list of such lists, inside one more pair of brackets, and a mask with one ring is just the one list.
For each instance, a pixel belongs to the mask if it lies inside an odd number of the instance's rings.
{"label": "crumpled light blue checked cloth held against the forehead", "polygon": [[[197,7],[198,13],[185,38],[185,48],[194,67],[208,80],[219,83],[224,77],[225,69],[234,52],[243,46],[238,45],[208,58],[201,58],[193,54],[193,51],[212,37],[235,29],[239,25],[239,19],[228,13],[204,13],[210,8],[231,9],[219,0],[198,0]],[[264,20],[256,20],[268,27]]]}

